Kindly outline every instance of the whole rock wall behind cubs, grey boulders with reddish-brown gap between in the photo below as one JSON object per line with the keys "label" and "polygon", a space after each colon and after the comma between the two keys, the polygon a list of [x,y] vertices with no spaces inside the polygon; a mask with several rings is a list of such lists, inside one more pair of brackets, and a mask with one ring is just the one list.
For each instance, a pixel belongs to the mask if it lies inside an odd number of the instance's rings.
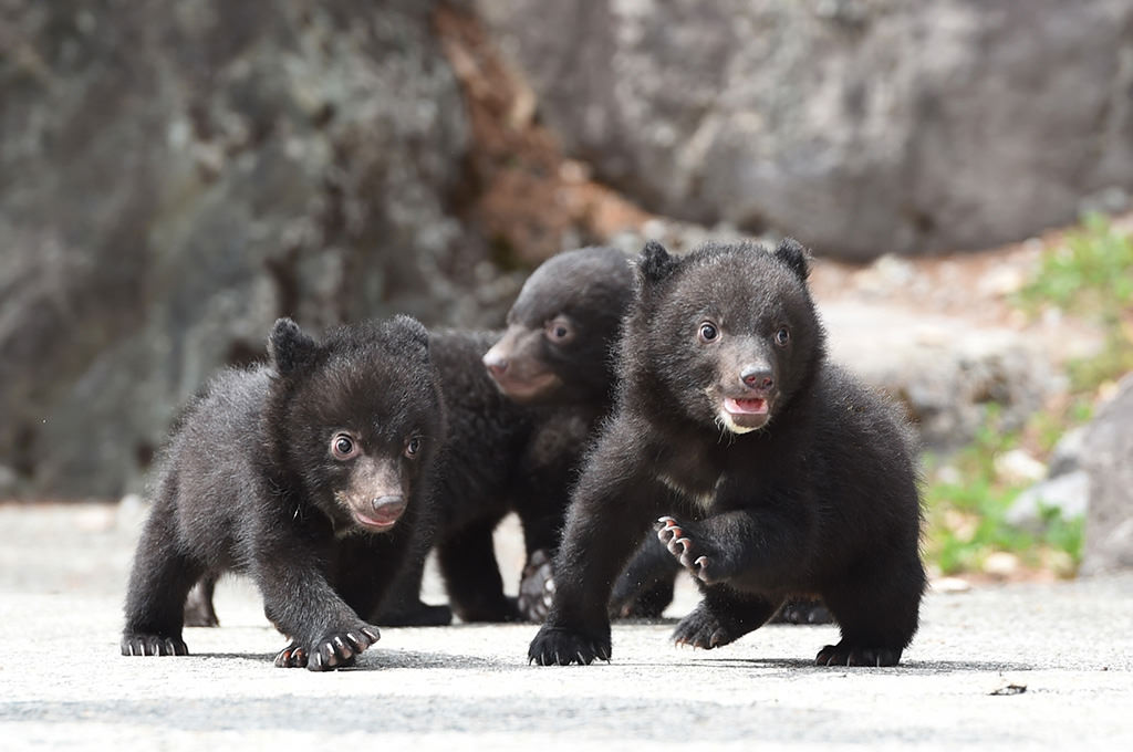
{"label": "whole rock wall behind cubs, grey boulders with reddish-brown gap between", "polygon": [[137,490],[280,315],[492,324],[653,225],[1024,237],[1133,189],[1131,92],[1128,0],[0,0],[0,497]]}

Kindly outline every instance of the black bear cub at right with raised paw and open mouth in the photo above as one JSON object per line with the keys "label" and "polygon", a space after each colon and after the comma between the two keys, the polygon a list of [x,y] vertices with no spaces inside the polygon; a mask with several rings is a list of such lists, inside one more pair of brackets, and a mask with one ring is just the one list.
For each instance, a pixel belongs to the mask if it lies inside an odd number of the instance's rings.
{"label": "black bear cub at right with raised paw and open mouth", "polygon": [[573,492],[530,660],[610,658],[611,583],[655,521],[704,591],[676,642],[724,646],[819,596],[842,641],[818,664],[900,660],[925,589],[914,452],[896,411],[826,359],[808,273],[792,240],[646,246],[614,415]]}

